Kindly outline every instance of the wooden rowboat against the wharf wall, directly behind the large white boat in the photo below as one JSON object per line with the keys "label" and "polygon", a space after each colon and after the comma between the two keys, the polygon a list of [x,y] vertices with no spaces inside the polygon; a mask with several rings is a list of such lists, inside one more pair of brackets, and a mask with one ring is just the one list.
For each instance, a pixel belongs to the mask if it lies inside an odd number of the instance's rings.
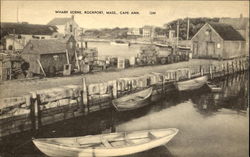
{"label": "wooden rowboat against the wharf wall, directly behind the large white boat", "polygon": [[134,110],[149,104],[153,88],[123,96],[112,101],[113,106],[117,111]]}

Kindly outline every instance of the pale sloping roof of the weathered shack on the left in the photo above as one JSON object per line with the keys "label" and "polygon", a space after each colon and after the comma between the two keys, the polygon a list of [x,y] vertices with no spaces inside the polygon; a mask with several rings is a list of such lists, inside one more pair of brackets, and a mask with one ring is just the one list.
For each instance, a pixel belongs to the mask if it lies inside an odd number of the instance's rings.
{"label": "pale sloping roof of the weathered shack on the left", "polygon": [[22,54],[55,54],[64,53],[66,43],[57,39],[30,40]]}

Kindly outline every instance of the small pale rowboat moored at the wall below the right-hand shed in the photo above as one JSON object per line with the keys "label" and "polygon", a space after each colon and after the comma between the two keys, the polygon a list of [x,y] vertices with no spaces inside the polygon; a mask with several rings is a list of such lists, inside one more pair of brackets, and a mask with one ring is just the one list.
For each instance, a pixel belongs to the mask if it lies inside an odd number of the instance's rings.
{"label": "small pale rowboat moored at the wall below the right-hand shed", "polygon": [[199,89],[207,83],[207,76],[200,76],[186,81],[177,82],[175,85],[179,91]]}

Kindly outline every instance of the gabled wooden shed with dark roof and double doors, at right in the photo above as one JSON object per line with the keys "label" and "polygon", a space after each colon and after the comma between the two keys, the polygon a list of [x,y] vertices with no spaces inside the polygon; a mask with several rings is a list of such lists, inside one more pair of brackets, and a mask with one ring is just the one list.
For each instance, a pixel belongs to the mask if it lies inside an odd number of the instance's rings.
{"label": "gabled wooden shed with dark roof and double doors, at right", "polygon": [[224,23],[206,23],[191,41],[193,58],[231,59],[245,54],[244,38]]}

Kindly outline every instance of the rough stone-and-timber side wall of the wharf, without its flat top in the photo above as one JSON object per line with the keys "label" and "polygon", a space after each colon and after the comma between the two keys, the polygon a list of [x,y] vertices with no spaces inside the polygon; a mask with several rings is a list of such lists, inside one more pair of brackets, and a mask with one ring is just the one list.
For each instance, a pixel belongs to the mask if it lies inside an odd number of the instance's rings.
{"label": "rough stone-and-timber side wall of the wharf, without its flat top", "polygon": [[152,101],[157,101],[175,90],[177,81],[203,75],[215,79],[244,72],[248,68],[248,59],[238,58],[95,84],[87,84],[83,77],[82,85],[37,90],[20,97],[0,99],[0,140],[15,133],[36,132],[42,126],[110,108],[114,98],[149,86],[153,87]]}

